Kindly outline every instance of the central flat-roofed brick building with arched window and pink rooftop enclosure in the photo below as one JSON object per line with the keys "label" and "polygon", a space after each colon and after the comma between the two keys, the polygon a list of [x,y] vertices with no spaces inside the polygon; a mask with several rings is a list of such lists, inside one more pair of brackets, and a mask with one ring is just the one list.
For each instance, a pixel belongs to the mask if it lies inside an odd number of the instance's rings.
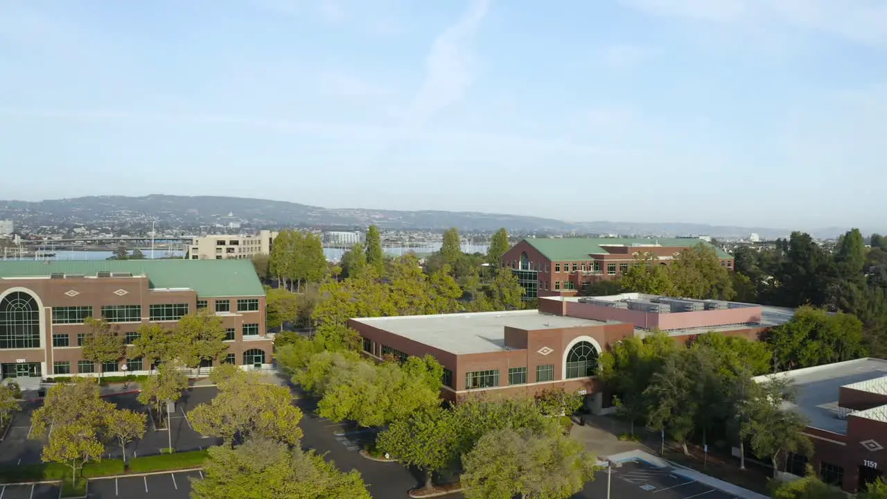
{"label": "central flat-roofed brick building with arched window and pink rooftop enclosure", "polygon": [[[434,356],[445,369],[448,400],[477,392],[533,395],[563,388],[585,394],[587,408],[606,412],[612,404],[596,376],[598,358],[617,341],[653,329],[665,330],[675,341],[708,331],[757,338],[794,315],[790,309],[704,305],[637,293],[595,298],[601,303],[580,299],[541,298],[538,311],[371,317],[351,319],[349,326],[362,338],[364,353],[374,358]],[[641,309],[632,302],[662,309]]]}

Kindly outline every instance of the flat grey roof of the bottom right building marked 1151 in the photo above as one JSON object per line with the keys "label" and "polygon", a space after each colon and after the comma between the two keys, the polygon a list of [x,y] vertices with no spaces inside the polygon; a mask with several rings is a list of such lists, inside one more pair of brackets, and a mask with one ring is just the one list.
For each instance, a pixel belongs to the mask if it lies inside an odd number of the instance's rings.
{"label": "flat grey roof of the bottom right building marked 1151", "polygon": [[[777,373],[777,376],[789,377],[792,386],[797,388],[797,401],[787,402],[787,408],[794,408],[806,416],[813,428],[846,434],[846,416],[852,411],[838,408],[838,389],[847,384],[887,376],[887,360],[872,358],[847,360]],[[762,382],[768,377],[757,376],[755,381]]]}

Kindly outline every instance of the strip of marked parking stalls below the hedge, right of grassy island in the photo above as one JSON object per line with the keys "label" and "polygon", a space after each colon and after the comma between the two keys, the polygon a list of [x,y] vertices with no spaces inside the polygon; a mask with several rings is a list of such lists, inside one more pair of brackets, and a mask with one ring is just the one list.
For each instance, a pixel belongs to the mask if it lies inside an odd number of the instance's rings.
{"label": "strip of marked parking stalls below the hedge, right of grassy island", "polygon": [[191,493],[190,479],[201,479],[202,477],[200,471],[179,471],[121,479],[90,479],[87,497],[96,499],[112,497],[188,499]]}

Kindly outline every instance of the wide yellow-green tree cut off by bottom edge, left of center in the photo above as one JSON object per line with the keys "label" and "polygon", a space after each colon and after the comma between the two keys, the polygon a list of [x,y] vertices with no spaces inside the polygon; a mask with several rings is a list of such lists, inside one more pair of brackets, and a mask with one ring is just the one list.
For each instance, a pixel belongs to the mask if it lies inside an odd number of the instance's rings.
{"label": "wide yellow-green tree cut off by bottom edge, left of center", "polygon": [[194,499],[370,499],[357,471],[341,472],[313,451],[273,440],[247,440],[237,448],[209,448]]}

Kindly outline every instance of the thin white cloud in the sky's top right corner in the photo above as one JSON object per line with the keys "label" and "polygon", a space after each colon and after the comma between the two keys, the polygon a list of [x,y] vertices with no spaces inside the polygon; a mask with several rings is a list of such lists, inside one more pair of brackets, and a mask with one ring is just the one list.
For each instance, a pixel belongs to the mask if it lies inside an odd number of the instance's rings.
{"label": "thin white cloud in the sky's top right corner", "polygon": [[621,0],[651,15],[724,24],[777,23],[861,44],[887,44],[883,0]]}

